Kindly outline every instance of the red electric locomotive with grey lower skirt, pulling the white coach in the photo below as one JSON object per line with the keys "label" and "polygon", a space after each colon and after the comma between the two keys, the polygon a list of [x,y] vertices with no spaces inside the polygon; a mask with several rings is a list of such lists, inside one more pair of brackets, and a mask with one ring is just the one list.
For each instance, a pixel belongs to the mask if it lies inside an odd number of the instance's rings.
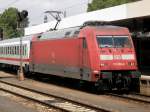
{"label": "red electric locomotive with grey lower skirt, pulling the white coach", "polygon": [[88,24],[50,31],[32,41],[29,71],[78,79],[98,90],[139,92],[134,45],[127,28]]}

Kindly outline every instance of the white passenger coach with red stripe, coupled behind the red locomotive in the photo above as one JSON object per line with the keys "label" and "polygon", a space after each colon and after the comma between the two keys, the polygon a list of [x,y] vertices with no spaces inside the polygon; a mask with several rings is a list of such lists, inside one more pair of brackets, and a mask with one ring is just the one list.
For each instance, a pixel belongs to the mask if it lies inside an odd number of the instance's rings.
{"label": "white passenger coach with red stripe, coupled behind the red locomotive", "polygon": [[[30,44],[32,36],[22,38],[23,66],[29,65]],[[20,66],[20,38],[0,41],[0,63],[3,66]]]}

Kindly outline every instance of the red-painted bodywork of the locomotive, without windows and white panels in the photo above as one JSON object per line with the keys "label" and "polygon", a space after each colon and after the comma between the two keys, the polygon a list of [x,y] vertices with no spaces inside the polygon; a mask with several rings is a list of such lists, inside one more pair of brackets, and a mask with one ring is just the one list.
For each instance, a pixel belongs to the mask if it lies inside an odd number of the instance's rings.
{"label": "red-painted bodywork of the locomotive, without windows and white panels", "polygon": [[[96,35],[130,35],[126,28],[92,28],[85,27],[80,30],[78,38],[62,38],[54,40],[35,40],[32,43],[31,63],[62,65],[66,67],[89,68],[91,71],[101,70],[136,70],[137,65],[128,66],[131,60],[112,60],[101,61],[100,54],[135,54],[134,48],[128,49],[102,49],[98,48]],[[87,49],[82,47],[83,38],[86,39]],[[131,37],[129,37],[131,40]],[[133,44],[133,43],[132,43]],[[123,51],[123,52],[122,52]],[[136,60],[133,60],[136,64]],[[101,63],[107,63],[108,66],[100,67]],[[125,66],[114,66],[113,62],[126,63]],[[71,75],[71,74],[70,74]],[[91,73],[92,81],[96,81],[95,74]]]}

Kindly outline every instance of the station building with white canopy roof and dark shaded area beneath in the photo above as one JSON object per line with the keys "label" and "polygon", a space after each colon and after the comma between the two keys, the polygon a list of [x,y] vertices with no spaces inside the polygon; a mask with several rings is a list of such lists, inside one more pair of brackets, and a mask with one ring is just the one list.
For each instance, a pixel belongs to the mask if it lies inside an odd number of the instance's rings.
{"label": "station building with white canopy roof and dark shaded area beneath", "polygon": [[[150,0],[118,5],[63,18],[58,29],[81,26],[86,21],[108,21],[130,29],[140,70],[150,69]],[[56,21],[25,28],[25,35],[42,33],[54,28]]]}

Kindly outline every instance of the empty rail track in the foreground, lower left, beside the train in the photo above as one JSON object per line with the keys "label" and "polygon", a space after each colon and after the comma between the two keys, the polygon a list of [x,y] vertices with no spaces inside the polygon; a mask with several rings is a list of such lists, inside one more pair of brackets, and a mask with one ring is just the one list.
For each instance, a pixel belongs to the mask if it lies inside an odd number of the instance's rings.
{"label": "empty rail track in the foreground, lower left, beside the train", "polygon": [[60,96],[46,94],[44,92],[39,92],[30,88],[22,87],[21,85],[14,85],[1,80],[0,90],[38,102],[42,105],[46,105],[63,112],[111,112],[109,109],[65,99]]}

